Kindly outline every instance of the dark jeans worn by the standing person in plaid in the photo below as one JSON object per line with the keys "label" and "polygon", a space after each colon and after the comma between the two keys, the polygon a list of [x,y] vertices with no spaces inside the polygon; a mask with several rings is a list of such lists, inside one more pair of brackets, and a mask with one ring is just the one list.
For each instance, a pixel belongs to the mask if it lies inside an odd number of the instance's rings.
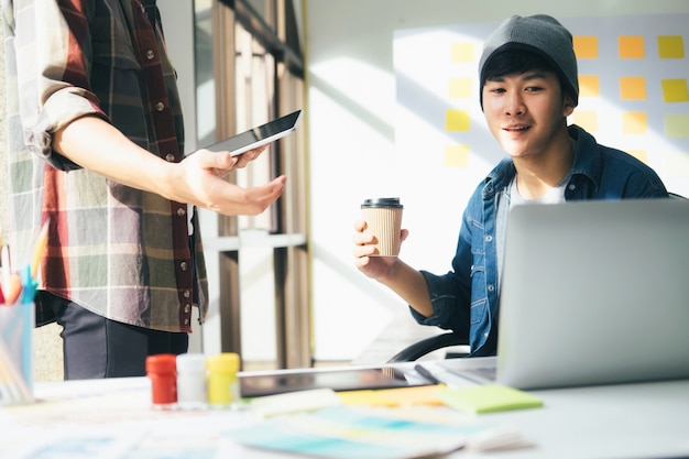
{"label": "dark jeans worn by the standing person in plaid", "polygon": [[63,327],[65,380],[144,376],[146,357],[187,351],[185,332],[151,330],[107,319],[81,306],[40,292]]}

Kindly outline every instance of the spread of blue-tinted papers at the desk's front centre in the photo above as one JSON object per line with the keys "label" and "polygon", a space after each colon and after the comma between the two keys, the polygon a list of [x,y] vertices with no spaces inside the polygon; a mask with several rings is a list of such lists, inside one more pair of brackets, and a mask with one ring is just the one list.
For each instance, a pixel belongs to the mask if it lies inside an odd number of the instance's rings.
{"label": "spread of blue-tinted papers at the desk's front centre", "polygon": [[429,458],[461,448],[527,445],[513,429],[438,406],[330,406],[275,416],[227,434],[253,448],[329,459]]}

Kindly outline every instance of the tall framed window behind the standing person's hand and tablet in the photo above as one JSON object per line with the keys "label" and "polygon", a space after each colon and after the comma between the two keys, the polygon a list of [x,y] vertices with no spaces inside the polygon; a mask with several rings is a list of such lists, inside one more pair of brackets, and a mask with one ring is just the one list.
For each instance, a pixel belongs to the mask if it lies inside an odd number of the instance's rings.
{"label": "tall framed window behind the standing person's hand and tablet", "polygon": [[[292,0],[196,0],[198,144],[210,144],[304,105],[304,69]],[[211,317],[208,352],[252,368],[310,365],[305,129],[228,178],[242,187],[286,174],[276,204],[254,217],[216,217],[204,234]],[[214,331],[215,330],[215,331]]]}

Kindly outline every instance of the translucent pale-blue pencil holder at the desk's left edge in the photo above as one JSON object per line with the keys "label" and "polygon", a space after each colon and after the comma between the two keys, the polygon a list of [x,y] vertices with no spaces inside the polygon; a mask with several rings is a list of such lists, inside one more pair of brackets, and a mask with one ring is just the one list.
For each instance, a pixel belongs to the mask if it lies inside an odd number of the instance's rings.
{"label": "translucent pale-blue pencil holder at the desk's left edge", "polygon": [[33,302],[0,306],[0,405],[33,402]]}

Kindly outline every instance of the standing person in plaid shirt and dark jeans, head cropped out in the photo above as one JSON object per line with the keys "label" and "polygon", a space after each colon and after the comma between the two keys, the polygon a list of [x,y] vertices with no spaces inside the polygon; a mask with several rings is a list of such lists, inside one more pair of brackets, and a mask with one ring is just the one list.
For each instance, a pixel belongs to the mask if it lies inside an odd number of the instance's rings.
{"label": "standing person in plaid shirt and dark jeans, head cropped out", "polygon": [[[50,219],[37,312],[63,326],[65,379],[145,374],[187,351],[208,289],[195,206],[256,215],[285,177],[240,188],[240,157],[185,157],[155,0],[2,0],[14,260]],[[24,252],[21,252],[24,251]]]}

